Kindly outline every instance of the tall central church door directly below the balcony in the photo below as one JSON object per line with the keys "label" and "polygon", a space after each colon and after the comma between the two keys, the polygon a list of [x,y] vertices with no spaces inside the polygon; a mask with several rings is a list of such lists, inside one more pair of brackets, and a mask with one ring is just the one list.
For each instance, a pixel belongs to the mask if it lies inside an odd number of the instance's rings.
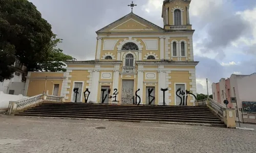
{"label": "tall central church door directly below the balcony", "polygon": [[133,95],[134,95],[133,86],[134,86],[134,80],[122,81],[122,93],[121,93],[122,104],[133,104]]}

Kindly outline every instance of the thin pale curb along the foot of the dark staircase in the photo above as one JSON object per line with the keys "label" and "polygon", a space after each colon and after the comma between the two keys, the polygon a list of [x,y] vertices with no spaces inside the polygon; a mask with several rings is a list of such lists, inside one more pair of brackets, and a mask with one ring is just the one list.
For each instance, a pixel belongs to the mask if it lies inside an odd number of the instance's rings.
{"label": "thin pale curb along the foot of the dark staircase", "polygon": [[76,120],[104,120],[104,121],[124,121],[124,122],[140,122],[140,123],[160,123],[160,124],[180,124],[180,125],[212,126],[211,124],[208,124],[208,123],[191,123],[191,122],[166,122],[166,121],[146,121],[146,120],[116,120],[116,119],[71,118],[71,117],[38,117],[38,116],[21,116],[21,117],[27,117],[27,118],[52,118],[52,119],[76,119]]}

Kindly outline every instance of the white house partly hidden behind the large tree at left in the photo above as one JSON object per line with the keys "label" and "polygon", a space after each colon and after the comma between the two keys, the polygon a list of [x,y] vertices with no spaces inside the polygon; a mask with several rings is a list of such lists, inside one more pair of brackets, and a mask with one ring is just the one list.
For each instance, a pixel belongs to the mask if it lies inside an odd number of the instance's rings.
{"label": "white house partly hidden behind the large tree at left", "polygon": [[24,95],[26,67],[18,61],[16,61],[13,66],[16,68],[16,71],[13,73],[13,78],[0,82],[0,91],[6,94]]}

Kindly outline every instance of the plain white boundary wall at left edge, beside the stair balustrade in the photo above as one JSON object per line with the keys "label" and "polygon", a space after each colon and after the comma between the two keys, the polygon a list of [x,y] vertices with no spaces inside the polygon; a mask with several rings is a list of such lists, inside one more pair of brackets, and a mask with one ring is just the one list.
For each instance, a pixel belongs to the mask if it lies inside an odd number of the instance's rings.
{"label": "plain white boundary wall at left edge, beside the stair balustrade", "polygon": [[27,96],[23,96],[22,94],[5,94],[4,92],[0,91],[0,112],[8,109],[9,101],[16,101],[23,98],[27,98]]}

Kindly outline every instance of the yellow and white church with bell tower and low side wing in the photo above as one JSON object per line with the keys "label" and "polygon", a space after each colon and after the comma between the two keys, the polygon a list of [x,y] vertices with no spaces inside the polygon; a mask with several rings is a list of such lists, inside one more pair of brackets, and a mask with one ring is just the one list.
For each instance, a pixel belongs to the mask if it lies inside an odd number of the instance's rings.
{"label": "yellow and white church with bell tower and low side wing", "polygon": [[[25,95],[66,102],[194,106],[197,95],[190,0],[165,0],[164,27],[133,12],[98,30],[95,60],[67,72],[28,72]],[[133,7],[133,6],[132,6]]]}

